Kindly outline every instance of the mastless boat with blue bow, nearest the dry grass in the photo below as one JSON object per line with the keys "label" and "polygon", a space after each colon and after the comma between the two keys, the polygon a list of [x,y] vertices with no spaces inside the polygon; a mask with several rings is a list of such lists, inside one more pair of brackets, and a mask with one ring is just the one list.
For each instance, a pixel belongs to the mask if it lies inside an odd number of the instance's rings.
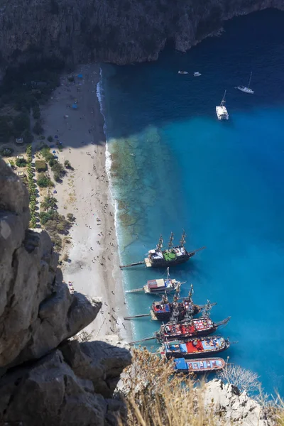
{"label": "mastless boat with blue bow, nearest the dry grass", "polygon": [[175,371],[177,373],[207,373],[215,370],[222,370],[225,361],[222,358],[202,358],[202,359],[174,359]]}

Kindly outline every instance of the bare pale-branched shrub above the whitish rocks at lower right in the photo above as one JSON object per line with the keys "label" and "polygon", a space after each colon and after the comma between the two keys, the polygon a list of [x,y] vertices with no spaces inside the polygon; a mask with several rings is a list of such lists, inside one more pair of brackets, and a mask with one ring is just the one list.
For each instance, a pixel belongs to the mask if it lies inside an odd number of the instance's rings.
{"label": "bare pale-branched shrub above the whitish rocks at lower right", "polygon": [[226,364],[223,370],[217,371],[217,376],[224,383],[236,386],[241,392],[255,393],[261,388],[261,383],[258,381],[259,376],[256,373],[235,364]]}

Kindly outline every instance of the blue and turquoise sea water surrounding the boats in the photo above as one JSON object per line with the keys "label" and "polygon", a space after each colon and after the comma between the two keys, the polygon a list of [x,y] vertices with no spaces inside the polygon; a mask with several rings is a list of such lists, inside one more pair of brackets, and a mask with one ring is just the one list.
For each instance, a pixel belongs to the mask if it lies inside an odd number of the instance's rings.
{"label": "blue and turquoise sea water surrounding the boats", "polygon": [[[195,287],[195,302],[217,302],[212,318],[239,341],[224,353],[256,371],[265,391],[284,394],[284,13],[236,18],[222,37],[157,62],[104,65],[104,114],[118,203],[121,262],[144,258],[160,234],[207,249],[171,276]],[[189,75],[178,75],[187,70]],[[194,78],[193,72],[201,77]],[[249,95],[234,89],[247,84]],[[227,90],[229,121],[215,115]],[[125,289],[164,271],[124,271]],[[129,314],[148,312],[149,295],[128,294]],[[135,338],[157,322],[133,322]]]}

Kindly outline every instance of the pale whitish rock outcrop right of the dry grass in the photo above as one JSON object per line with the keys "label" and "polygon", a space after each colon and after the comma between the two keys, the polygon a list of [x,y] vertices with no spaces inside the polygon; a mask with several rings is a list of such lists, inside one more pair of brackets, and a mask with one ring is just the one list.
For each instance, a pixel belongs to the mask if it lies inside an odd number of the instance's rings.
{"label": "pale whitish rock outcrop right of the dry grass", "polygon": [[214,408],[220,425],[272,426],[256,400],[249,398],[246,391],[240,392],[236,386],[224,384],[221,380],[209,381],[204,387],[204,405]]}

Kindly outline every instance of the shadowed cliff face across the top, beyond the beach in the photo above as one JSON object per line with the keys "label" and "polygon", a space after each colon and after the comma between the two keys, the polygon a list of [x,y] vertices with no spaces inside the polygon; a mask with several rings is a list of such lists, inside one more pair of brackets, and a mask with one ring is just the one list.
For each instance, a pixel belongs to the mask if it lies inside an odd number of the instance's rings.
{"label": "shadowed cliff face across the top, beyond the beach", "polygon": [[28,59],[75,64],[155,60],[167,41],[185,52],[233,16],[282,0],[1,0],[0,69]]}

